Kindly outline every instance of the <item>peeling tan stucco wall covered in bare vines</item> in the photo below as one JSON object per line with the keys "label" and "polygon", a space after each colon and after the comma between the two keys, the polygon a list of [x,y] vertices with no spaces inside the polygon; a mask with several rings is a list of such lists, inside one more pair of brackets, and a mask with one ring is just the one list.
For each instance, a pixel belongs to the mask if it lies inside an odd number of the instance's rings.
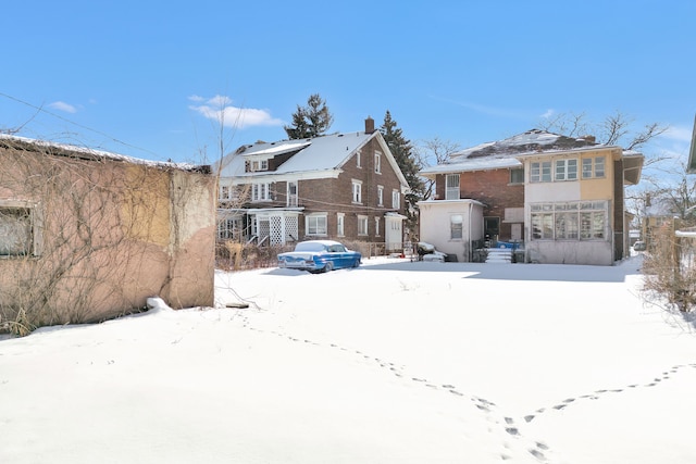
{"label": "peeling tan stucco wall covered in bare vines", "polygon": [[214,303],[215,179],[170,165],[0,146],[0,206],[33,204],[36,253],[0,258],[0,317],[94,322],[160,296]]}

